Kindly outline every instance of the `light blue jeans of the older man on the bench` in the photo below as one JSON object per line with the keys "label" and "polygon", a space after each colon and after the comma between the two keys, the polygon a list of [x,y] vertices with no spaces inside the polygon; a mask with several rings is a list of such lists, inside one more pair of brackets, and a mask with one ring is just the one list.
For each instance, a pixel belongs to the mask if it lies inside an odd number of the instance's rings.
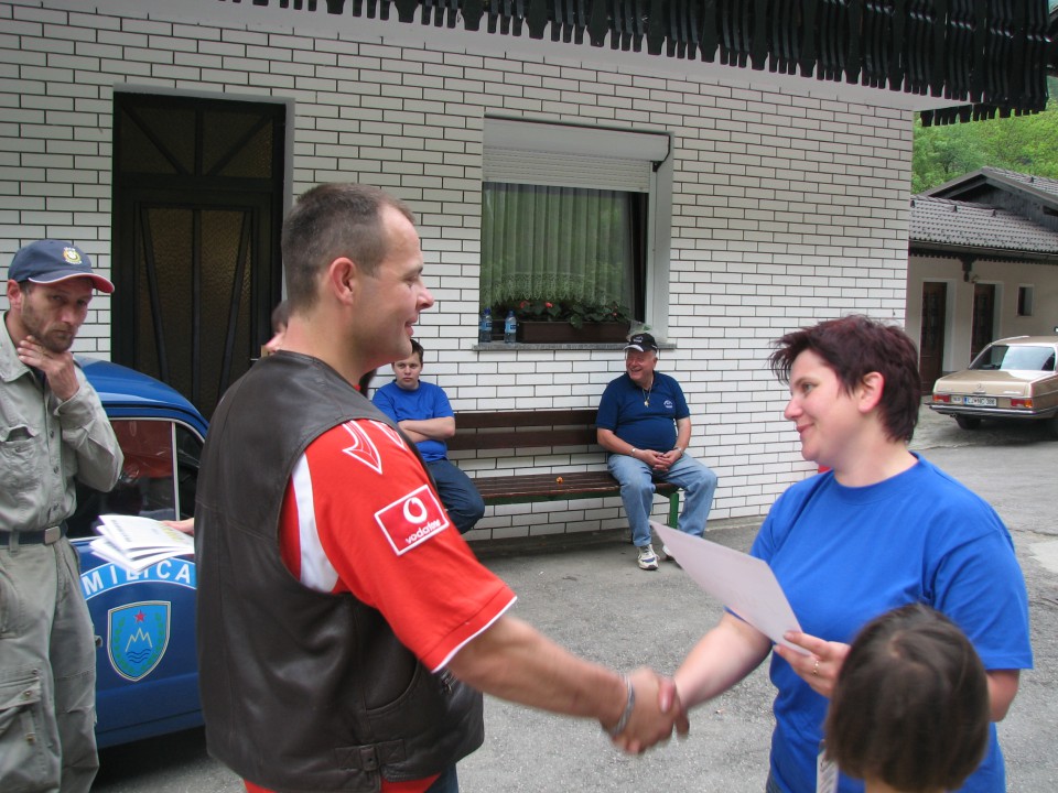
{"label": "light blue jeans of the older man on the bench", "polygon": [[631,541],[643,547],[650,543],[650,510],[654,507],[654,482],[668,481],[683,490],[683,511],[677,526],[685,534],[702,536],[705,519],[713,506],[716,475],[697,459],[683,455],[665,474],[655,474],[646,463],[628,455],[609,455],[606,465],[620,482],[620,500],[631,525]]}

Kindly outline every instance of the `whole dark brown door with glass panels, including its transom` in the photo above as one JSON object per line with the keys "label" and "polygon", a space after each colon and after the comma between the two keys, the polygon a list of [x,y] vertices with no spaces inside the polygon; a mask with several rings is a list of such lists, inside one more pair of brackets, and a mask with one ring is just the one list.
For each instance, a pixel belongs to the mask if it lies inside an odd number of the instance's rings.
{"label": "whole dark brown door with glass panels, including its transom", "polygon": [[271,335],[284,113],[115,95],[114,358],[207,417]]}

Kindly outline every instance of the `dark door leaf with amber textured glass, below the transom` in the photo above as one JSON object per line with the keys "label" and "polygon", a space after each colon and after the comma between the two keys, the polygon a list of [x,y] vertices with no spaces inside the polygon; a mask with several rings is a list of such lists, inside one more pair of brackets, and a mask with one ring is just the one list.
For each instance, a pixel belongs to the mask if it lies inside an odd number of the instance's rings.
{"label": "dark door leaf with amber textured glass, below the transom", "polygon": [[[268,328],[253,305],[274,302],[255,283],[269,243],[269,207],[250,196],[184,196],[129,191],[120,210],[133,222],[126,269],[137,329],[132,368],[169,383],[206,416],[249,368]],[[266,290],[263,295],[257,294]],[[125,302],[125,301],[123,301]]]}

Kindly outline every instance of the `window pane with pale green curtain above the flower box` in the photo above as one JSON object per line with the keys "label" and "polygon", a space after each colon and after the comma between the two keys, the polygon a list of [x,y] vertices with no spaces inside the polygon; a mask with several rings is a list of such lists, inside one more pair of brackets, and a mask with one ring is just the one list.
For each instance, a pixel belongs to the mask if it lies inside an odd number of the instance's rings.
{"label": "window pane with pale green curtain above the flower box", "polygon": [[646,196],[486,182],[482,305],[515,300],[637,305]]}

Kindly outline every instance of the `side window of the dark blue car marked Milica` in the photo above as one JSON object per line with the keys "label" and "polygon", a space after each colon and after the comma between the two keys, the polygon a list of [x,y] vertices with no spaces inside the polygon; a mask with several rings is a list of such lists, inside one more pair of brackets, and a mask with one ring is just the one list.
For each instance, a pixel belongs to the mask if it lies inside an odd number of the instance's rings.
{"label": "side window of the dark blue car marked Milica", "polygon": [[111,419],[125,465],[118,484],[100,492],[78,482],[77,511],[67,520],[71,536],[89,536],[100,514],[134,514],[155,520],[190,518],[202,438],[183,424],[153,419]]}

